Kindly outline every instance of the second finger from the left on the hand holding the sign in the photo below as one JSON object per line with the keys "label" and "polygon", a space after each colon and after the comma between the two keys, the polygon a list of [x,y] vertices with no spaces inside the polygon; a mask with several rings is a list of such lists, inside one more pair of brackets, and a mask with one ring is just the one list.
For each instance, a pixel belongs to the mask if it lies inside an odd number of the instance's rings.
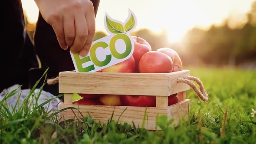
{"label": "second finger from the left on the hand holding the sign", "polygon": [[75,39],[75,22],[74,16],[67,13],[63,17],[63,27],[65,33],[65,41],[68,46],[72,46]]}

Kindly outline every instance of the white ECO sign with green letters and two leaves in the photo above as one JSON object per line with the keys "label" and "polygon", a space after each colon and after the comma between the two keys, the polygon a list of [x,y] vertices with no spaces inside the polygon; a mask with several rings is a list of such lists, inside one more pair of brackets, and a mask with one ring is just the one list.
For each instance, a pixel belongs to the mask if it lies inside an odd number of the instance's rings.
{"label": "white ECO sign with green letters and two leaves", "polygon": [[129,33],[135,29],[136,23],[131,10],[125,23],[112,19],[106,13],[105,29],[109,35],[94,41],[85,57],[70,52],[76,72],[96,72],[130,58],[134,43]]}

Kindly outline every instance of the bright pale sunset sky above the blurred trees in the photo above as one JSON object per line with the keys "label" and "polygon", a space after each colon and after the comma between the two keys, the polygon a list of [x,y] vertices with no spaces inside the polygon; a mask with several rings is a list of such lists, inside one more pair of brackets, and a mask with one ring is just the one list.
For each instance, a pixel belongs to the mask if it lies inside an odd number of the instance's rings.
{"label": "bright pale sunset sky above the blurred trees", "polygon": [[[148,28],[158,33],[167,30],[171,42],[182,39],[195,26],[207,29],[231,17],[231,26],[246,23],[246,13],[254,0],[101,0],[96,16],[96,30],[105,31],[104,16],[122,22],[131,9],[138,20],[136,30]],[[38,8],[33,0],[22,0],[30,23],[35,23]]]}

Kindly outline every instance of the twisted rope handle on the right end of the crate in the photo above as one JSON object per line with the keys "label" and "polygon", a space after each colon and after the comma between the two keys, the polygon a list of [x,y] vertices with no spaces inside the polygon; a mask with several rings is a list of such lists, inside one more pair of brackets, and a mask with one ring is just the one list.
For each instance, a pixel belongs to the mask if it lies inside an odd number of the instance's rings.
{"label": "twisted rope handle on the right end of the crate", "polygon": [[[199,85],[199,89],[197,88],[197,86],[191,82],[190,80],[195,81],[198,85]],[[182,78],[178,78],[177,82],[183,82],[187,85],[189,85],[191,88],[193,88],[193,90],[197,93],[198,97],[202,100],[202,101],[207,101],[208,100],[208,94],[207,92],[205,92],[205,89],[203,87],[203,83],[200,81],[200,79],[198,79],[197,77],[194,76],[190,76],[190,75],[185,75]]]}

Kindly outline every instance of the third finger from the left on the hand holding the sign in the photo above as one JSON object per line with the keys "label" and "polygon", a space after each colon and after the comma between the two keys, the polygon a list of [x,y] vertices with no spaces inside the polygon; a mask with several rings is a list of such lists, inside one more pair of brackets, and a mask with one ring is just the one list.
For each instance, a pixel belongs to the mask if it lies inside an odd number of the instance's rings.
{"label": "third finger from the left on the hand holding the sign", "polygon": [[85,20],[85,15],[78,13],[75,16],[75,40],[70,48],[71,52],[80,52],[80,50],[85,45],[88,35],[87,23]]}

